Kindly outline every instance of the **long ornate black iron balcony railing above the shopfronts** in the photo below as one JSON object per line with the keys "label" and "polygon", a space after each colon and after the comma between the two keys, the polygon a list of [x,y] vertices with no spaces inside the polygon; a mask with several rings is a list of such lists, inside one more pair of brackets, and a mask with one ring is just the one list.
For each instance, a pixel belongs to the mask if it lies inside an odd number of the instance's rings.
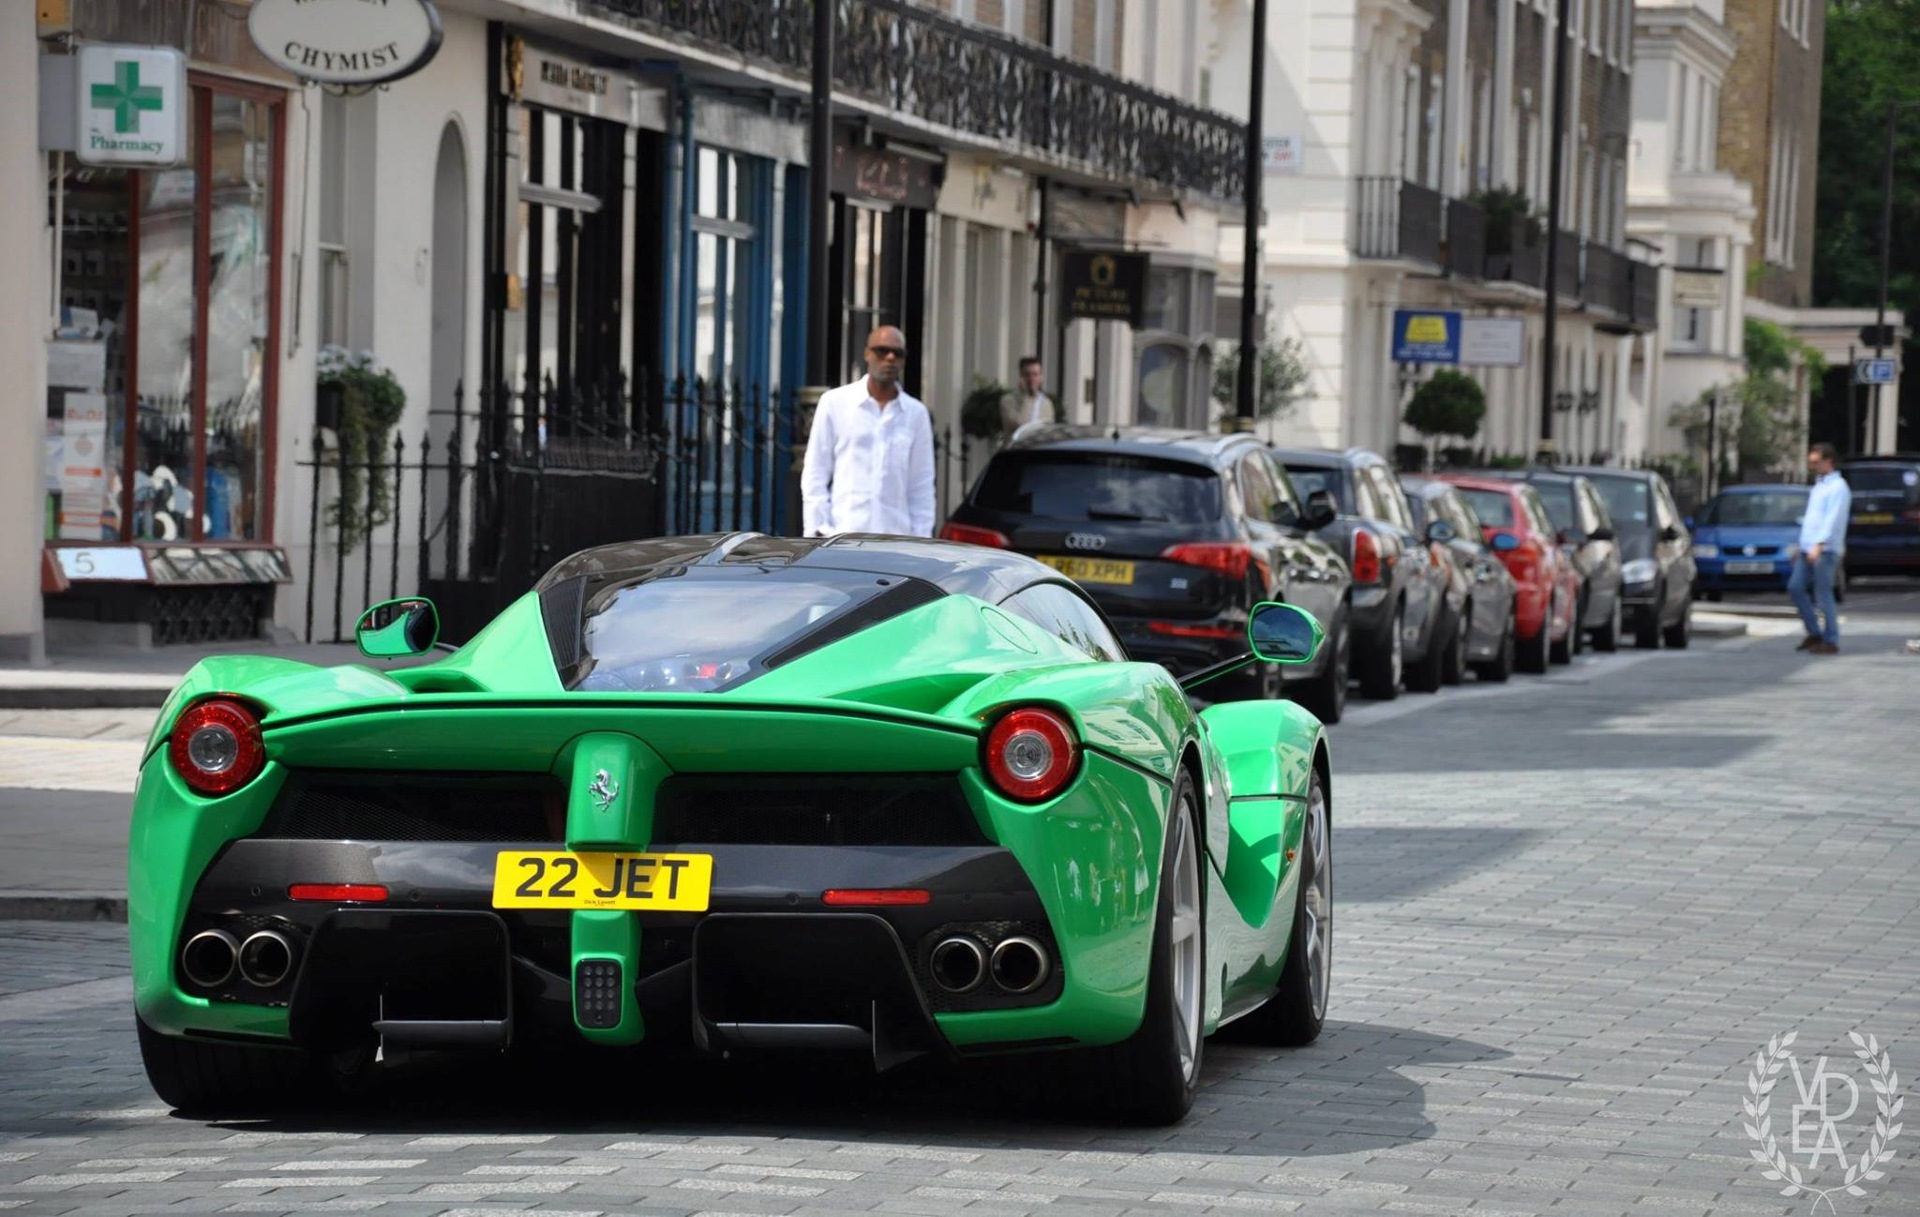
{"label": "long ornate black iron balcony railing above the shopfronts", "polygon": [[[1236,202],[1246,125],[1043,46],[904,0],[833,2],[833,86],[902,113],[1119,182]],[[806,88],[812,0],[580,0],[645,33],[720,48]]]}

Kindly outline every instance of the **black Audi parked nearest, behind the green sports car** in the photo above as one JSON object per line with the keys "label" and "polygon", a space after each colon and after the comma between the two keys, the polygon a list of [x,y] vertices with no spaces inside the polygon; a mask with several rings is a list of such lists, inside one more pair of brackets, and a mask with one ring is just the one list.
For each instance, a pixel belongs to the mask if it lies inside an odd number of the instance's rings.
{"label": "black Audi parked nearest, behind the green sports car", "polygon": [[[1346,706],[1346,561],[1254,436],[1041,426],[993,455],[941,536],[1037,557],[1087,589],[1137,660],[1198,672],[1246,651],[1261,601],[1327,630],[1286,693],[1336,722]],[[1200,685],[1210,701],[1281,695],[1279,664]]]}

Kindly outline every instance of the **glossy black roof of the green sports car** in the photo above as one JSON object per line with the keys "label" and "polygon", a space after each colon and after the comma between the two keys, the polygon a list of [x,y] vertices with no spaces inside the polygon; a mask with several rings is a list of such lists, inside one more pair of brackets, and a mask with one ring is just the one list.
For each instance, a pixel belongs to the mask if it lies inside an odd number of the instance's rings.
{"label": "glossy black roof of the green sports car", "polygon": [[1006,549],[962,541],[841,534],[833,537],[770,537],[758,532],[651,537],[595,545],[561,559],[541,576],[536,591],[574,578],[620,584],[660,566],[770,566],[776,570],[858,570],[874,576],[933,584],[947,595],[972,595],[1000,603],[1014,591],[1041,582],[1066,582],[1052,568]]}

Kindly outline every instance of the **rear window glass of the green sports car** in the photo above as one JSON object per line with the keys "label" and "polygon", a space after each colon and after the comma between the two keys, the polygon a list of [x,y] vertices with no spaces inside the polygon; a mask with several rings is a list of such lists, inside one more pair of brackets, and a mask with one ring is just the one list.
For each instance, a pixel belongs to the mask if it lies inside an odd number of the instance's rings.
{"label": "rear window glass of the green sports car", "polygon": [[[914,595],[920,591],[920,595]],[[902,612],[939,591],[854,570],[682,566],[593,595],[566,687],[589,693],[716,693],[808,647]]]}

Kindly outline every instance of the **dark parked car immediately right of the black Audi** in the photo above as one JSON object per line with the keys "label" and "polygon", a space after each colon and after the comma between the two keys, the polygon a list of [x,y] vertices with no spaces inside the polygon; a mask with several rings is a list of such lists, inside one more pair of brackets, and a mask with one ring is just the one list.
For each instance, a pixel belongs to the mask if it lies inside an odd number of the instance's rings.
{"label": "dark parked car immediately right of the black Audi", "polygon": [[1413,509],[1379,453],[1283,447],[1275,455],[1304,495],[1325,491],[1338,516],[1319,534],[1354,570],[1354,662],[1359,691],[1390,699],[1405,687],[1440,687],[1446,570],[1413,530]]}

